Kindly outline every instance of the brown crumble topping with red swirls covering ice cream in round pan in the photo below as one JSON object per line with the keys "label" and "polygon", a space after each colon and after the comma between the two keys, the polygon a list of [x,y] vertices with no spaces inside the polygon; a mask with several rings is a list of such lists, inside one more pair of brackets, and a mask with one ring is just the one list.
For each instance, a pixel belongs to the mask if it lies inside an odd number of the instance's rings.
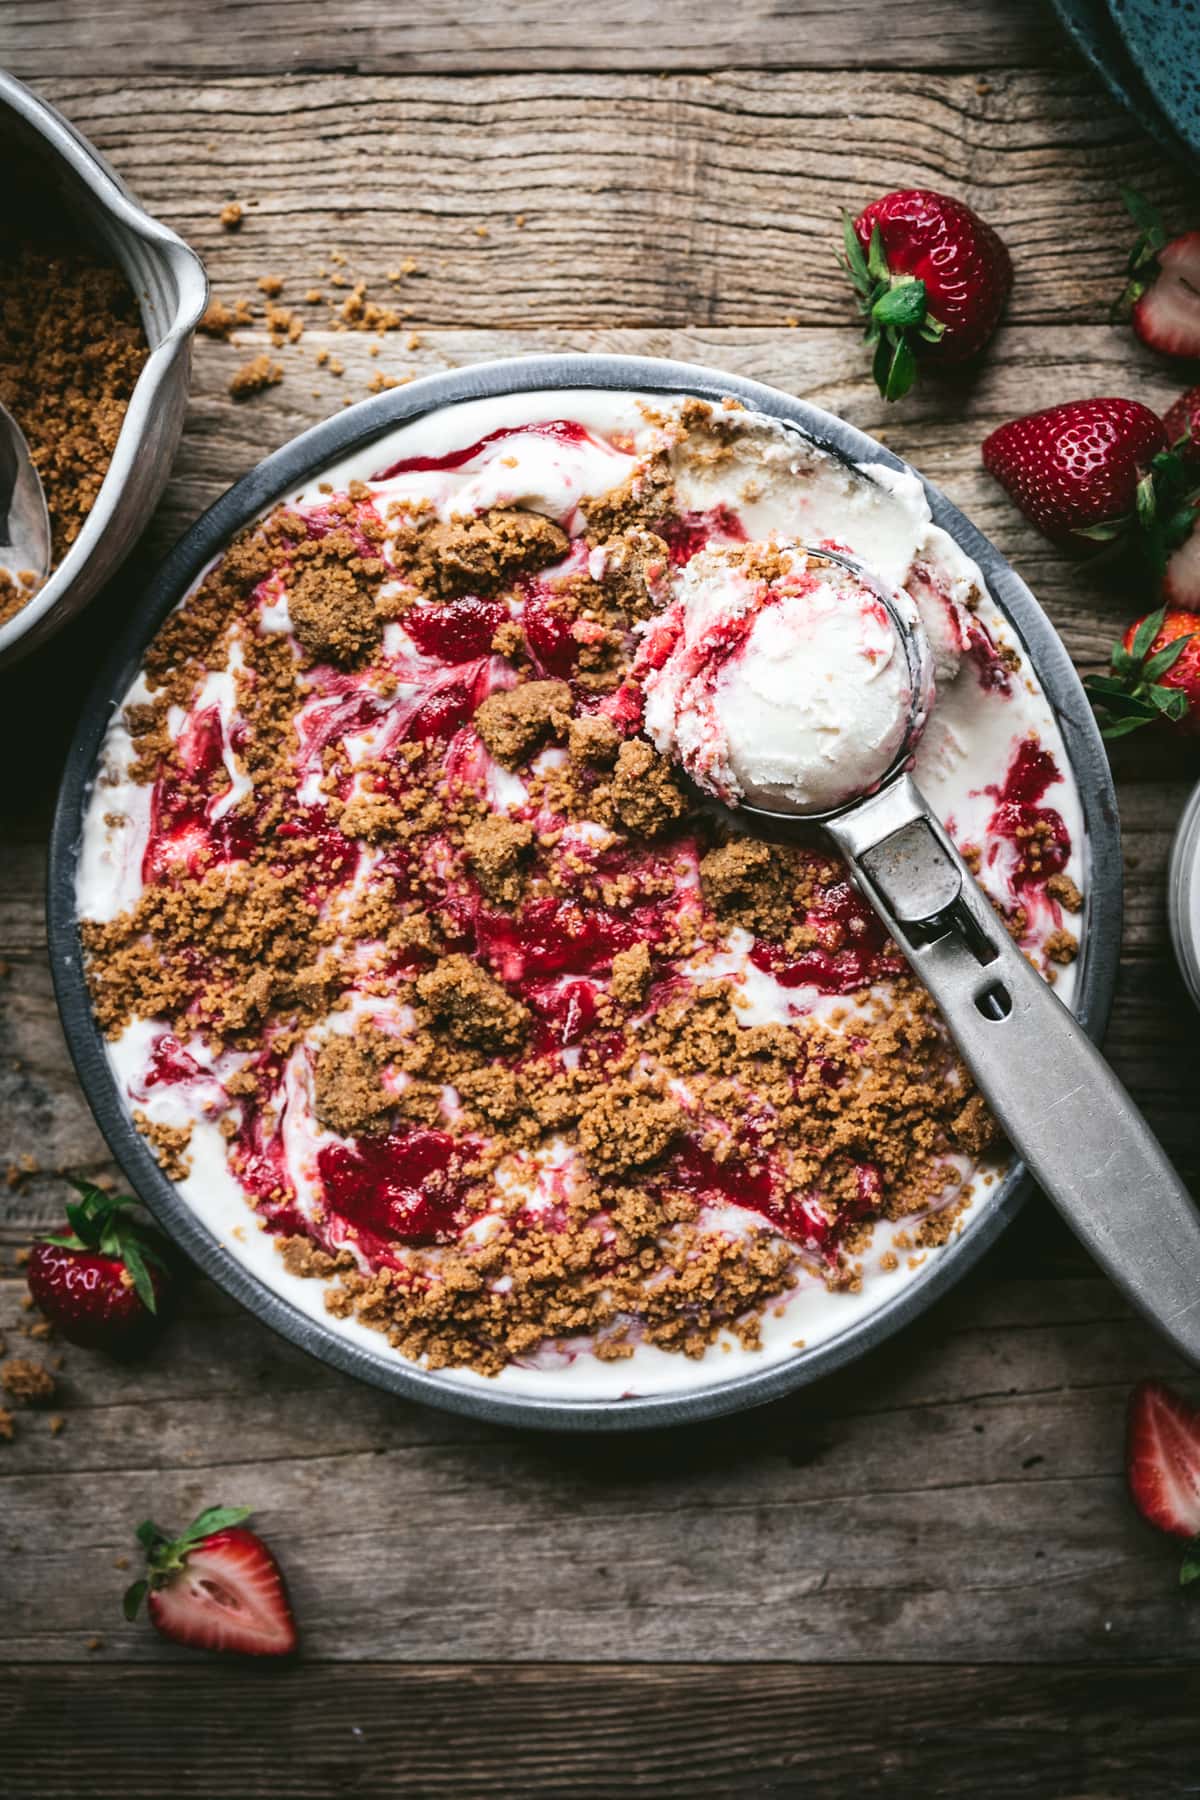
{"label": "brown crumble topping with red swirls covering ice cream in round pan", "polygon": [[[720,464],[736,419],[705,409],[696,428]],[[910,1220],[905,1247],[945,1240],[961,1213],[946,1157],[995,1145],[936,1008],[874,941],[837,857],[727,837],[639,734],[626,671],[671,504],[660,457],[585,502],[590,572],[552,567],[569,545],[540,515],[446,526],[410,508],[385,531],[353,488],[326,491],[309,531],[281,508],[167,621],[149,700],[126,709],[140,779],[176,783],[187,806],[221,796],[225,761],[196,787],[167,715],[236,643],[236,760],[254,794],[228,812],[237,859],[167,844],[128,914],[85,923],[97,1017],[110,1035],[162,1019],[236,1058],[219,1127],[284,1267],[432,1368],[497,1373],[558,1339],[617,1361],[640,1341],[754,1345],[801,1265],[858,1285],[876,1217]],[[259,630],[259,605],[281,601],[291,630]],[[426,704],[381,653],[396,625],[417,641],[421,608],[480,621],[434,695],[448,724],[430,715],[428,734],[385,747],[362,736],[351,756],[345,738],[398,697],[394,716]],[[563,666],[570,679],[547,673]],[[315,734],[300,808],[297,715],[313,731],[322,707],[351,724]],[[504,810],[511,772],[524,815]],[[363,864],[365,884],[351,878]],[[732,931],[763,968],[862,952],[864,974],[828,1017],[748,1024],[738,986],[703,974]],[[558,950],[590,932],[606,947],[576,981]],[[259,1156],[279,1132],[272,1058],[297,1051],[320,1154],[394,1156],[389,1204],[441,1208],[392,1246],[403,1256],[367,1251],[360,1226],[320,1242],[333,1190],[304,1224],[286,1170]],[[140,1125],[187,1166],[185,1132]],[[558,1143],[569,1172],[538,1211],[529,1170]],[[412,1177],[405,1156],[425,1157]],[[748,1195],[761,1224],[714,1228],[712,1195]]]}

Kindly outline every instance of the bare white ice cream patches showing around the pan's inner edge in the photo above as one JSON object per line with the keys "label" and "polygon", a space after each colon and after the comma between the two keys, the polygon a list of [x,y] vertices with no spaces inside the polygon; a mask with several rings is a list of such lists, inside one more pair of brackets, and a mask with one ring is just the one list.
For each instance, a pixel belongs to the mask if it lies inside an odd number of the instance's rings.
{"label": "bare white ice cream patches showing around the pan's inner edge", "polygon": [[[500,427],[540,419],[576,419],[597,437],[630,434],[640,454],[658,437],[655,419],[660,421],[664,414],[675,412],[680,403],[662,396],[617,394],[601,389],[563,389],[468,401],[399,427],[367,450],[313,475],[304,488],[286,499],[293,504],[317,504],[322,499],[317,493],[318,482],[342,491],[349,481],[369,481],[374,472],[401,457],[443,455]],[[443,517],[488,506],[527,506],[558,518],[569,529],[572,526],[578,529],[579,500],[617,486],[630,466],[624,455],[608,446],[570,445],[529,434],[502,439],[466,468],[416,473],[372,486],[378,490],[381,509],[392,499],[425,495],[434,500]],[[752,497],[736,486],[739,481],[754,482]],[[903,585],[914,558],[937,562],[943,571],[952,572],[961,598],[972,585],[979,589],[977,616],[991,637],[1016,650],[1022,648],[1011,625],[991,601],[977,567],[945,531],[930,522],[925,491],[909,473],[891,470],[885,464],[867,464],[862,473],[856,473],[793,434],[777,432],[765,425],[763,432],[752,439],[750,454],[741,470],[678,468],[676,488],[682,504],[698,511],[720,502],[732,504],[752,538],[777,533],[806,544],[833,540],[892,585]],[[945,659],[946,646],[939,641],[945,637],[939,634],[939,621],[927,616],[925,623],[936,657]],[[286,603],[264,608],[261,628],[286,630]],[[945,673],[948,673],[946,666],[943,666]],[[210,704],[232,706],[228,673],[210,675],[209,684],[207,700]],[[122,706],[144,697],[146,686],[139,677]],[[173,729],[178,729],[180,724],[182,720],[173,720]],[[939,689],[937,706],[918,754],[916,776],[939,815],[952,817],[959,842],[979,842],[993,801],[973,790],[972,781],[984,785],[1002,779],[1018,740],[1031,729],[1040,734],[1042,743],[1054,754],[1063,772],[1063,781],[1049,790],[1047,805],[1056,806],[1067,823],[1072,841],[1067,873],[1083,886],[1085,832],[1079,797],[1052,711],[1025,664],[1024,652],[1009,698],[982,695],[970,664],[964,664],[957,680],[950,680]],[[140,893],[140,859],[149,824],[149,788],[137,787],[128,779],[130,761],[131,742],[117,713],[103,751],[103,781],[94,788],[85,821],[77,875],[83,918],[113,918]],[[236,781],[241,779],[232,765],[230,774]],[[504,805],[504,794],[495,796],[498,805]],[[106,824],[106,814],[124,815],[124,823]],[[1070,923],[1078,925],[1079,922],[1072,920]],[[750,945],[748,934],[734,932],[729,941],[729,974],[738,976],[743,985],[745,1006],[739,1013],[743,1022],[793,1019],[799,1004],[804,1003],[804,990],[786,990],[768,974],[748,965],[745,961],[745,950]],[[723,970],[705,967],[705,974],[718,972]],[[1070,1003],[1074,988],[1074,968],[1063,968],[1058,994]],[[847,1004],[846,999],[808,992],[804,1010],[820,1017],[835,1006],[846,1008]],[[345,1022],[349,1022],[347,1015],[342,1015],[340,1028],[345,1028]],[[135,1021],[121,1040],[108,1046],[113,1075],[122,1093],[128,1094],[137,1082],[144,1069],[149,1037],[157,1035],[158,1030],[160,1024]],[[139,1103],[151,1120],[175,1125],[193,1123],[191,1174],[178,1183],[178,1192],[230,1255],[268,1289],[297,1310],[320,1321],[329,1332],[374,1355],[405,1361],[389,1348],[380,1332],[358,1325],[354,1319],[333,1318],[324,1307],[326,1282],[293,1276],[284,1269],[275,1238],[259,1228],[239,1183],[228,1170],[225,1139],[216,1125],[203,1118],[201,1089],[193,1094],[191,1111],[184,1105],[178,1089],[157,1089]],[[324,1138],[318,1127],[315,1130]],[[297,1145],[299,1161],[309,1161],[311,1150],[313,1143]],[[560,1150],[561,1147],[551,1145],[543,1154],[547,1175]],[[966,1159],[957,1161],[963,1175],[970,1175],[972,1165]],[[959,1215],[954,1237],[981,1222],[981,1190],[991,1186],[995,1179],[995,1172],[986,1172],[977,1174],[966,1184],[964,1193],[972,1204]],[[729,1208],[720,1211],[720,1224],[725,1229],[736,1229],[739,1224],[745,1229],[761,1229],[761,1219],[756,1213],[739,1213]],[[912,1220],[907,1222],[907,1229],[912,1231]],[[862,1283],[856,1292],[829,1292],[819,1274],[801,1273],[797,1285],[781,1298],[775,1309],[768,1309],[763,1319],[761,1350],[745,1350],[732,1334],[725,1334],[698,1361],[639,1343],[631,1357],[604,1363],[592,1357],[587,1345],[572,1343],[561,1352],[545,1346],[536,1359],[509,1364],[497,1377],[482,1377],[473,1370],[441,1370],[437,1381],[486,1391],[498,1388],[515,1397],[601,1400],[716,1386],[750,1370],[766,1370],[847,1332],[871,1312],[892,1301],[930,1258],[945,1255],[939,1249],[916,1255],[910,1249],[896,1251],[898,1231],[905,1231],[905,1222],[900,1226],[880,1222],[876,1226],[869,1249],[858,1258]],[[896,1267],[883,1267],[885,1260],[894,1262]]]}

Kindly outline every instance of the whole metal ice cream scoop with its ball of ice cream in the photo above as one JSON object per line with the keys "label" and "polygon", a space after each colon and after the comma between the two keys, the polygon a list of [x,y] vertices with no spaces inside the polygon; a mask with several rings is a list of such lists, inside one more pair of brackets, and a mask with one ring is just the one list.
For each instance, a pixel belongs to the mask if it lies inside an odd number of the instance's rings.
{"label": "whole metal ice cream scoop with its ball of ice cream", "polygon": [[907,772],[936,700],[903,589],[829,549],[694,558],[642,652],[646,729],[712,797],[820,821],[1047,1195],[1200,1363],[1200,1215],[1137,1107],[997,920]]}

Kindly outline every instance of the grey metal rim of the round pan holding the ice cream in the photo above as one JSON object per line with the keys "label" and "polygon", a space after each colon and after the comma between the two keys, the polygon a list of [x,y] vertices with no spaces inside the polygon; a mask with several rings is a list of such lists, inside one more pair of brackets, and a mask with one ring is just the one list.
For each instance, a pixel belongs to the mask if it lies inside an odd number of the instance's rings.
{"label": "grey metal rim of the round pan holding the ice cream", "polygon": [[[554,1431],[621,1431],[639,1426],[682,1424],[757,1406],[815,1381],[819,1375],[828,1375],[853,1357],[876,1348],[923,1312],[939,1294],[945,1294],[997,1240],[1025,1199],[1027,1177],[1022,1166],[1013,1166],[1004,1181],[975,1202],[963,1233],[930,1256],[896,1298],[849,1325],[838,1336],[811,1350],[799,1350],[788,1361],[774,1363],[761,1372],[748,1370],[732,1379],[721,1379],[720,1361],[714,1359],[714,1379],[707,1386],[689,1388],[684,1393],[617,1400],[567,1400],[561,1397],[542,1400],[529,1395],[507,1395],[498,1386],[493,1390],[475,1384],[464,1386],[401,1361],[389,1350],[383,1337],[376,1352],[351,1343],[331,1325],[309,1318],[252,1276],[196,1219],[158,1168],[146,1139],[135,1130],[124,1096],[113,1078],[104,1040],[92,1015],[76,920],[76,862],[83,810],[113,709],[135,679],[153,634],[228,540],[309,477],[407,419],[466,400],[560,387],[687,392],[705,400],[721,400],[721,396],[732,394],[752,410],[799,428],[846,461],[907,466],[883,445],[833,418],[833,414],[793,400],[774,387],[721,374],[716,369],[642,356],[567,355],[480,364],[365,400],[324,425],[313,427],[236,482],[185,533],[133,608],[128,630],[115,644],[108,666],[83,709],[63,774],[50,839],[49,941],[67,1042],[99,1127],[140,1199],[205,1274],[291,1343],[335,1368],[407,1399],[513,1426],[538,1426]],[[995,601],[1024,641],[1038,680],[1058,715],[1081,794],[1088,839],[1087,916],[1081,932],[1083,952],[1076,1008],[1092,1037],[1099,1039],[1108,1019],[1121,943],[1121,857],[1108,760],[1070,657],[1025,583],[936,488],[925,482],[925,491],[937,524],[981,567]]]}

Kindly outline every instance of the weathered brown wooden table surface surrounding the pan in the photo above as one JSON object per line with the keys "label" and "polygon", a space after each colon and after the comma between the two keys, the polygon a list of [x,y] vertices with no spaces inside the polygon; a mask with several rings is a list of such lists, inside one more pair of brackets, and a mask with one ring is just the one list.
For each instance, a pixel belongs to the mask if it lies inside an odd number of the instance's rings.
{"label": "weathered brown wooden table surface surrounding the pan", "polygon": [[[927,470],[1013,558],[1085,670],[1141,610],[1069,567],[982,473],[1004,418],[1182,383],[1108,324],[1117,184],[1187,184],[1038,0],[2,0],[7,67],[207,259],[291,302],[340,250],[410,308],[378,340],[201,338],[135,565],[0,680],[0,1330],[14,1253],[104,1145],[72,1078],[41,882],[58,767],[99,648],[157,554],[304,425],[398,378],[534,349],[694,358],[774,382]],[[1004,234],[1016,284],[975,380],[883,409],[833,247],[842,207],[936,185]],[[1195,193],[1195,184],[1193,184]],[[237,234],[218,223],[241,200]],[[522,223],[524,221],[524,223]],[[416,268],[399,284],[387,272]],[[320,369],[326,347],[342,364]],[[371,355],[372,349],[378,355]],[[1126,931],[1110,1055],[1200,1181],[1200,1019],[1164,918],[1200,767],[1119,760]],[[22,1172],[22,1159],[29,1165]],[[173,1795],[1054,1795],[1200,1791],[1200,1611],[1133,1516],[1123,1408],[1198,1384],[1033,1202],[887,1348],[745,1417],[631,1438],[407,1406],[288,1348],[207,1283],[153,1361],[67,1346],[54,1435],[0,1444],[0,1789]],[[304,1654],[243,1669],[126,1625],[139,1519],[246,1503]]]}

